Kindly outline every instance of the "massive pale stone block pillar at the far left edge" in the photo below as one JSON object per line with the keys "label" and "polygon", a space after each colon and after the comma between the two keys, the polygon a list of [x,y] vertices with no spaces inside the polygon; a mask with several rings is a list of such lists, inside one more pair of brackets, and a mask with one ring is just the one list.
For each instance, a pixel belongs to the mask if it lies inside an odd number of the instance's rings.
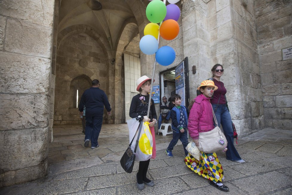
{"label": "massive pale stone block pillar at the far left edge", "polygon": [[54,2],[0,1],[0,187],[47,174]]}

